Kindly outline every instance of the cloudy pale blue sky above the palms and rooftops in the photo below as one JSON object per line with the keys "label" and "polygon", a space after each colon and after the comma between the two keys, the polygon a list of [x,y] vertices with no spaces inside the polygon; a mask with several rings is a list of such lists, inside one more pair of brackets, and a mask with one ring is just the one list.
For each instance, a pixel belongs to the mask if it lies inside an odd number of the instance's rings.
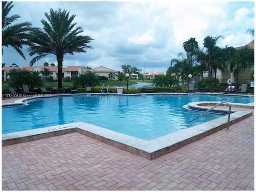
{"label": "cloudy pale blue sky above the palms and rooftops", "polygon": [[[63,66],[105,66],[121,71],[130,64],[146,72],[166,72],[170,60],[184,52],[182,44],[195,37],[203,48],[206,36],[223,35],[218,46],[242,46],[253,38],[246,33],[254,29],[254,2],[14,2],[10,14],[20,14],[18,22],[28,21],[42,28],[50,8],[61,8],[75,14],[74,22],[82,26],[83,34],[94,40],[93,50],[64,56]],[[27,47],[24,60],[14,49],[3,48],[2,63],[28,66],[32,57]],[[55,63],[49,55],[36,62]],[[146,68],[144,68],[146,66]]]}

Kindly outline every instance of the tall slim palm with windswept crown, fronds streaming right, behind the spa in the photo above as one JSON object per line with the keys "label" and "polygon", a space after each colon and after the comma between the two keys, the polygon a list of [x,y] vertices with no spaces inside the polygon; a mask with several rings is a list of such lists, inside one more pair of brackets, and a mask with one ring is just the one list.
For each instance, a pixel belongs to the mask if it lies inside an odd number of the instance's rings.
{"label": "tall slim palm with windswept crown, fronds streaming right, behind the spa", "polygon": [[204,38],[204,48],[206,48],[207,53],[208,53],[208,58],[209,58],[209,66],[208,66],[208,74],[209,77],[212,77],[212,52],[214,47],[216,46],[216,43],[218,39],[223,38],[223,36],[217,36],[217,37],[212,37],[212,36],[207,36]]}

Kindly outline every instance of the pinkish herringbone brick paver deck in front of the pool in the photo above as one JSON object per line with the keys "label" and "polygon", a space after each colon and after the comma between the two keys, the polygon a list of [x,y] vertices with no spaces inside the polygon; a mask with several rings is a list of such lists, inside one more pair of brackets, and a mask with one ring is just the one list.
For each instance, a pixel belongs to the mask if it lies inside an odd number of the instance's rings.
{"label": "pinkish herringbone brick paver deck in front of the pool", "polygon": [[254,190],[254,117],[146,160],[79,133],[2,147],[2,190]]}

